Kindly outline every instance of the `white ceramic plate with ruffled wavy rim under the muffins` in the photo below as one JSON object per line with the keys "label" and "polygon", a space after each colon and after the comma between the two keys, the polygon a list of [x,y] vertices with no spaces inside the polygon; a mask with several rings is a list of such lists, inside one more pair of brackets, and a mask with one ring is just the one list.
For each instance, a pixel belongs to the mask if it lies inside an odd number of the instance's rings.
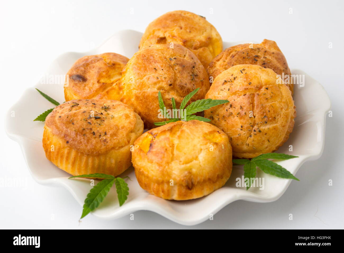
{"label": "white ceramic plate with ruffled wavy rim under the muffins", "polygon": [[[138,50],[141,36],[142,33],[132,30],[120,31],[103,45],[89,52],[62,54],[52,62],[46,73],[48,77],[50,74],[66,74],[72,64],[85,55],[114,52],[130,58]],[[224,48],[240,43],[245,42],[224,43]],[[297,110],[295,126],[290,138],[278,152],[292,154],[299,158],[277,163],[295,175],[305,161],[315,160],[321,156],[324,147],[325,118],[331,103],[320,83],[301,70],[293,69],[291,72],[304,75],[305,83],[304,87],[299,87],[299,85],[294,87]],[[45,158],[42,147],[44,122],[33,122],[33,119],[43,111],[53,108],[54,105],[45,100],[34,88],[40,89],[60,103],[64,102],[62,84],[38,82],[34,87],[27,89],[21,99],[10,108],[5,120],[7,134],[19,143],[35,181],[44,185],[59,185],[67,188],[83,206],[85,197],[92,187],[89,180],[68,180],[69,174],[58,169]],[[13,112],[15,117],[13,117]],[[289,145],[293,146],[292,152],[289,152]],[[245,187],[236,187],[236,178],[241,178],[242,175],[242,166],[236,165],[233,167],[230,179],[221,189],[199,199],[174,201],[164,200],[144,191],[136,181],[131,167],[121,175],[129,176],[132,180],[127,179],[130,193],[126,203],[119,207],[116,189],[112,187],[104,202],[92,214],[99,218],[116,219],[138,210],[150,210],[182,225],[196,225],[238,199],[252,202],[275,201],[282,196],[291,182],[291,180],[280,179],[258,170],[257,176],[265,179],[265,188],[260,190],[258,187],[251,187],[246,191]],[[80,207],[80,214],[81,210]]]}

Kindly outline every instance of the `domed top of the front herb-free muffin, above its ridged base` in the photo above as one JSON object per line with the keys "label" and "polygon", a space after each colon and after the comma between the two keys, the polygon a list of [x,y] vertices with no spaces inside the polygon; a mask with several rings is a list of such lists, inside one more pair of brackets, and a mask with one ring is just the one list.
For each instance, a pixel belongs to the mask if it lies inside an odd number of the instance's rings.
{"label": "domed top of the front herb-free muffin, above its ridged base", "polygon": [[209,178],[215,182],[222,170],[232,168],[232,149],[228,136],[216,126],[199,120],[178,121],[141,135],[135,141],[133,160],[155,182],[173,179],[191,187]]}

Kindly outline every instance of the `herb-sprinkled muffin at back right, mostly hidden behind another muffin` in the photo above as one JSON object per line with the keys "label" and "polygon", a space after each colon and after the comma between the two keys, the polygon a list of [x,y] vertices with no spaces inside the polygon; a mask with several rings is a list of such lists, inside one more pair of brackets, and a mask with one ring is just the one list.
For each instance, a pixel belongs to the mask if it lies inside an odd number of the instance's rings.
{"label": "herb-sprinkled muffin at back right, mostly hidden behind another muffin", "polygon": [[[290,76],[290,69],[282,51],[276,42],[268,39],[264,39],[260,44],[240,44],[228,47],[214,58],[209,64],[207,72],[209,77],[215,79],[222,71],[240,64],[259,65],[272,69],[280,76],[282,76],[282,73],[284,73],[284,76]],[[293,94],[294,85],[292,80],[288,86]]]}

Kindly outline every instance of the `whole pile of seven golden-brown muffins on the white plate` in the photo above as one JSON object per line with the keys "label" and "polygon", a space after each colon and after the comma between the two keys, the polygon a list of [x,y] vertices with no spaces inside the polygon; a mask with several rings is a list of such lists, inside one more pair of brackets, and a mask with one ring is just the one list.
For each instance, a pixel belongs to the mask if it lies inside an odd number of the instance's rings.
{"label": "whole pile of seven golden-brown muffins on the white plate", "polygon": [[[274,41],[223,51],[203,16],[168,12],[151,22],[130,59],[116,53],[85,56],[67,73],[67,102],[45,120],[46,157],[72,175],[117,176],[135,168],[150,194],[175,200],[208,195],[232,172],[232,156],[277,150],[294,125],[293,84]],[[199,88],[199,99],[228,103],[204,112],[209,123],[177,121],[157,127],[158,93],[177,107]],[[148,129],[143,133],[143,129]]]}

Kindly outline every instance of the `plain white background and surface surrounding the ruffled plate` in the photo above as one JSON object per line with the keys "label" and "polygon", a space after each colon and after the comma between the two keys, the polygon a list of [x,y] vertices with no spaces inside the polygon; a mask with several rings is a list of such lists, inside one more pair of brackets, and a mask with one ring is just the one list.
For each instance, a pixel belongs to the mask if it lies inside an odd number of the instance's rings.
{"label": "plain white background and surface surrounding the ruffled plate", "polygon": [[[301,181],[293,181],[280,199],[237,201],[219,211],[214,220],[193,227],[149,211],[136,212],[133,221],[129,216],[108,221],[88,215],[79,224],[82,208],[71,194],[33,181],[18,144],[0,124],[0,177],[27,182],[25,187],[0,187],[0,228],[343,229],[343,7],[343,1],[329,0],[1,1],[2,119],[58,55],[88,51],[118,30],[143,32],[153,19],[180,9],[205,16],[223,41],[276,41],[291,69],[302,69],[324,86],[333,117],[326,119],[323,156],[303,164],[296,175]],[[328,185],[329,179],[333,186]]]}

